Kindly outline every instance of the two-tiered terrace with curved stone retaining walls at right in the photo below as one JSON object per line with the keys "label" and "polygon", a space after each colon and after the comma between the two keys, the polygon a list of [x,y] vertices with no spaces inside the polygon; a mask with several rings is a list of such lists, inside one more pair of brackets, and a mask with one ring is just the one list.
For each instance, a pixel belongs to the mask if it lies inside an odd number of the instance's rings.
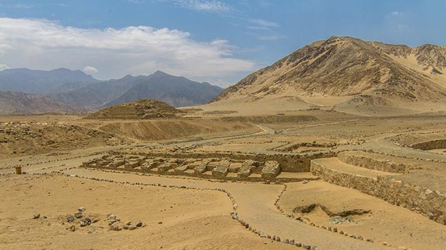
{"label": "two-tiered terrace with curved stone retaining walls at right", "polygon": [[[395,205],[414,210],[428,218],[446,225],[446,195],[438,190],[416,186],[411,182],[397,179],[399,174],[376,171],[362,166],[377,162],[358,155],[341,154],[341,158],[359,166],[341,162],[338,158],[312,160],[311,172],[331,184],[355,188],[368,195],[373,195]],[[371,166],[372,168],[372,166]]]}

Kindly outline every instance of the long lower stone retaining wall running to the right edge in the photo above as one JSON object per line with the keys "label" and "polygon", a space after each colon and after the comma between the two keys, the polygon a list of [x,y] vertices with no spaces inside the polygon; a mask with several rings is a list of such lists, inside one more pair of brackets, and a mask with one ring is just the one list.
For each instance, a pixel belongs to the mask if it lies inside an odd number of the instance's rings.
{"label": "long lower stone retaining wall running to the right edge", "polygon": [[446,225],[446,197],[438,191],[403,183],[390,176],[375,178],[333,171],[312,161],[311,173],[325,182],[355,188],[394,205],[400,205]]}

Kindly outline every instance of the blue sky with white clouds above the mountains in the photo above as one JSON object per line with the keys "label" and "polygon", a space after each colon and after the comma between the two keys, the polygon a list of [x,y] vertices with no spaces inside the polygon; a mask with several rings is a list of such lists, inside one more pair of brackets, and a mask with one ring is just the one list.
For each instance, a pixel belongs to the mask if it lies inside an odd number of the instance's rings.
{"label": "blue sky with white clouds above the mountains", "polygon": [[333,35],[445,45],[445,13],[443,0],[0,0],[0,69],[159,69],[228,86]]}

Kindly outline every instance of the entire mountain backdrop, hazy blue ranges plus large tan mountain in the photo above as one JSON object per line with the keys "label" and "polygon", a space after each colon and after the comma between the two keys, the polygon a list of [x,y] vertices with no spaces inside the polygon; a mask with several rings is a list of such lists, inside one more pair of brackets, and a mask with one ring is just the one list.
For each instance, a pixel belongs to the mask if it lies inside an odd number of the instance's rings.
{"label": "entire mountain backdrop, hazy blue ranges plus large tan mountain", "polygon": [[[277,107],[277,112],[319,107],[366,115],[443,111],[446,46],[408,47],[332,36],[294,51],[224,91],[161,71],[100,81],[65,68],[0,71],[0,91],[3,114],[5,110],[51,112],[51,105],[54,112],[85,112],[137,99],[156,99],[174,107],[211,101],[210,105],[226,110],[263,105],[268,110]],[[46,108],[26,108],[36,103]]]}

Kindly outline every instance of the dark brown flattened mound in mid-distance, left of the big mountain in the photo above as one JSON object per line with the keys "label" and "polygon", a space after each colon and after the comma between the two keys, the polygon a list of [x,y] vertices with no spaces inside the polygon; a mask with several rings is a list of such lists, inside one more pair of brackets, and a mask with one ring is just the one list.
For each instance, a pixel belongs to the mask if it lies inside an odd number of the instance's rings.
{"label": "dark brown flattened mound in mid-distance, left of the big mountain", "polygon": [[162,101],[141,99],[130,103],[118,104],[86,116],[90,119],[150,119],[168,118],[180,112]]}

